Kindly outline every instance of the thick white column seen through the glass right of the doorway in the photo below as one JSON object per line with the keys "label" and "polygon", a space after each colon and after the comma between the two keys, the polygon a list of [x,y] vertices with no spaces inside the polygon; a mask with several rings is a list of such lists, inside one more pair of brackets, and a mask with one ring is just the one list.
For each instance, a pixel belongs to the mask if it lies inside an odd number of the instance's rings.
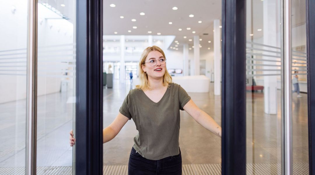
{"label": "thick white column seen through the glass right of the doorway", "polygon": [[[276,16],[278,15],[276,8],[276,1],[264,0],[263,2],[263,39],[264,44],[269,46],[277,46],[277,23]],[[256,29],[257,30],[257,29]],[[254,30],[255,31],[255,30]],[[270,50],[271,48],[265,47],[264,49]],[[268,55],[276,55],[270,52],[266,52]],[[279,55],[280,56],[280,55]],[[263,59],[270,59],[263,57]],[[264,64],[276,65],[275,62],[267,62]],[[275,69],[272,66],[264,66],[264,69]],[[277,74],[279,72],[264,72],[264,74]],[[264,102],[266,114],[277,114],[277,76],[264,76]]]}

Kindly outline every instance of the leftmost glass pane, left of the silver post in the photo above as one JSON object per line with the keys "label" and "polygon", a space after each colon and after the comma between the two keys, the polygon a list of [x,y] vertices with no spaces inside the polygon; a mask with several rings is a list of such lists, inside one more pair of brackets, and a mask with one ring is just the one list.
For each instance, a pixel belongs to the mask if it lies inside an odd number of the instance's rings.
{"label": "leftmost glass pane, left of the silver post", "polygon": [[0,174],[25,174],[27,1],[1,1],[0,21]]}

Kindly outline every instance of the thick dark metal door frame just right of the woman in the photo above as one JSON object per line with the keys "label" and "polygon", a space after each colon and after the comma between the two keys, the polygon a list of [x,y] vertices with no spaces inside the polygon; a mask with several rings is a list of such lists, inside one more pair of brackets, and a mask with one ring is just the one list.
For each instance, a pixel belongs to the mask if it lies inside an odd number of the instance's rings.
{"label": "thick dark metal door frame just right of the woman", "polygon": [[246,1],[222,1],[222,174],[246,174]]}

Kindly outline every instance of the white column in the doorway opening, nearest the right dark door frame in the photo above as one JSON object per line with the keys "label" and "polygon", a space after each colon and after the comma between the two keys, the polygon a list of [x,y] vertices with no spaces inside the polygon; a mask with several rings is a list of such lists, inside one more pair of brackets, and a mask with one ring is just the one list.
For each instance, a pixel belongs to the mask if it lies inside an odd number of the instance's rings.
{"label": "white column in the doorway opening, nearest the right dark door frame", "polygon": [[220,20],[214,20],[213,49],[214,49],[214,94],[221,95],[221,32]]}

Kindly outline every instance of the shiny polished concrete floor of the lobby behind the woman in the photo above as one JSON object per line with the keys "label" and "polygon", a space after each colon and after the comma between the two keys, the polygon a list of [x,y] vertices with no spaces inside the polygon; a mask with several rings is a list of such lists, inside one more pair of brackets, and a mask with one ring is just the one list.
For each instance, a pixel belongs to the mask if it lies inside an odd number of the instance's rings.
{"label": "shiny polished concrete floor of the lobby behind the woman", "polygon": [[[130,84],[115,81],[104,88],[104,123],[109,125],[130,89]],[[221,125],[221,97],[209,93],[188,93],[193,101]],[[247,93],[247,163],[281,163],[280,92],[278,115],[263,111],[263,93]],[[307,96],[293,96],[293,163],[308,163]],[[69,131],[72,128],[72,93],[54,93],[38,98],[37,166],[72,166]],[[25,100],[0,104],[0,167],[25,166]],[[221,138],[204,129],[181,111],[180,149],[183,164],[220,164]],[[127,165],[137,134],[128,121],[121,132],[103,145],[104,165]]]}

